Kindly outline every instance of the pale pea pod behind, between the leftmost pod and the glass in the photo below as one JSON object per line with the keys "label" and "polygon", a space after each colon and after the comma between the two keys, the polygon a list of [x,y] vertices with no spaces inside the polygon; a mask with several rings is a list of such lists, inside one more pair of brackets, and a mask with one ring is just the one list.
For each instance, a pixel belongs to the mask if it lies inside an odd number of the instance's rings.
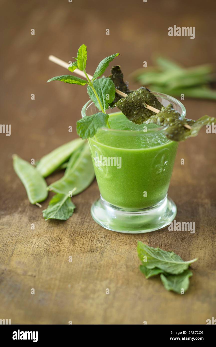
{"label": "pale pea pod behind, between the leftmost pod and the glass", "polygon": [[43,177],[49,176],[53,171],[58,169],[58,167],[60,167],[60,165],[64,163],[77,148],[83,145],[84,141],[81,138],[76,138],[73,141],[65,143],[49,154],[43,156],[37,164],[37,170]]}

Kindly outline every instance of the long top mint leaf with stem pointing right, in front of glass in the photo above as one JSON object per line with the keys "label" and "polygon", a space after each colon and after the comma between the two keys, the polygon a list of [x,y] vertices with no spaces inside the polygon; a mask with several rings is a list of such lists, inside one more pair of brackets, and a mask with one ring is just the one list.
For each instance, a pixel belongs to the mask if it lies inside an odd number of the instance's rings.
{"label": "long top mint leaf with stem pointing right, in front of glass", "polygon": [[144,260],[144,256],[147,257],[147,261],[143,264],[148,269],[158,268],[167,273],[179,274],[184,270],[187,270],[189,265],[197,260],[183,261],[181,257],[174,252],[166,252],[161,248],[153,248],[138,241],[137,246],[138,257],[141,261]]}

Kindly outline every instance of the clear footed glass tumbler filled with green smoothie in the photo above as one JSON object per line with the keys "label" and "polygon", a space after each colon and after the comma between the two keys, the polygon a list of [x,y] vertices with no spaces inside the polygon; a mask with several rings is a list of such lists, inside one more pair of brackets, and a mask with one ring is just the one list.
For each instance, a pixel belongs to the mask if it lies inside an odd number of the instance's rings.
{"label": "clear footed glass tumbler filled with green smoothie", "polygon": [[[173,104],[182,117],[186,110],[172,96],[153,92],[166,106]],[[97,113],[92,101],[82,117]],[[121,112],[106,111],[111,117]],[[161,229],[176,215],[175,203],[167,197],[178,142],[170,141],[164,128],[143,124],[143,130],[101,128],[88,139],[101,197],[91,208],[93,219],[102,227],[126,233]]]}

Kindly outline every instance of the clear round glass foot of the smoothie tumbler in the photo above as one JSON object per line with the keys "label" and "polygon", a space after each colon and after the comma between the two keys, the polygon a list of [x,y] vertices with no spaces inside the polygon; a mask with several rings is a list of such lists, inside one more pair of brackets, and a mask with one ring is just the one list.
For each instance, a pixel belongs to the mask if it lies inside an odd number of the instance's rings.
{"label": "clear round glass foot of the smoothie tumbler", "polygon": [[105,229],[141,234],[164,228],[175,218],[177,208],[171,198],[139,211],[126,211],[111,205],[101,196],[91,207],[92,218]]}

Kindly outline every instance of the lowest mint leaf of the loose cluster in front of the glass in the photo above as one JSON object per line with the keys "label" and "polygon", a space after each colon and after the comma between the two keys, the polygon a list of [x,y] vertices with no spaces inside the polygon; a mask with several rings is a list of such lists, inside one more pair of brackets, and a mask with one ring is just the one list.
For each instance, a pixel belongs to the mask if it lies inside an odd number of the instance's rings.
{"label": "lowest mint leaf of the loose cluster in front of the glass", "polygon": [[173,290],[181,294],[182,289],[186,291],[189,287],[189,278],[193,276],[190,270],[185,270],[179,275],[164,276],[161,274],[161,281],[166,290]]}

